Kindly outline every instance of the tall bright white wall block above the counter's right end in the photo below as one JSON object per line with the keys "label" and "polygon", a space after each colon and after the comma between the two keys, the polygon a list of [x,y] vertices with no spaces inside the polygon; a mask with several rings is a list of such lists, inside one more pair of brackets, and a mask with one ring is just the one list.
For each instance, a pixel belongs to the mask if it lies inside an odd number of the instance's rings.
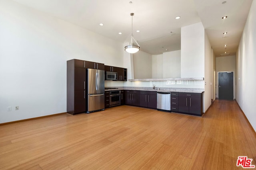
{"label": "tall bright white wall block above the counter's right end", "polygon": [[201,22],[181,28],[181,77],[204,77],[204,27]]}

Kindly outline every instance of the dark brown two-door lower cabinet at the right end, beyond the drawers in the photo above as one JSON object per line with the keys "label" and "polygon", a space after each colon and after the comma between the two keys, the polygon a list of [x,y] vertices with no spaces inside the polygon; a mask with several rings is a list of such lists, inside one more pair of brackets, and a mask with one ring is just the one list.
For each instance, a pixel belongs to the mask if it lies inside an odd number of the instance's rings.
{"label": "dark brown two-door lower cabinet at the right end, beyond the drawers", "polygon": [[179,92],[178,111],[191,115],[202,115],[202,94]]}

